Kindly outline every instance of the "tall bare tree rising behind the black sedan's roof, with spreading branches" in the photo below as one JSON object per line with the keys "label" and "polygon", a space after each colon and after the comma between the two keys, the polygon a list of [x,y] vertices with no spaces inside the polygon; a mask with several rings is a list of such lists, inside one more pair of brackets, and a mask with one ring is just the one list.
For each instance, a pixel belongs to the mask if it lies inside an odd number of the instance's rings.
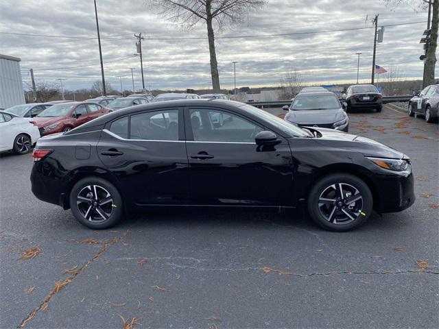
{"label": "tall bare tree rising behind the black sedan's roof, with spreading branches", "polygon": [[209,53],[211,57],[211,77],[214,93],[220,93],[218,62],[215,51],[214,25],[221,28],[226,24],[244,21],[251,10],[261,8],[266,0],[147,0],[151,8],[169,21],[181,23],[187,28],[200,21],[206,23]]}

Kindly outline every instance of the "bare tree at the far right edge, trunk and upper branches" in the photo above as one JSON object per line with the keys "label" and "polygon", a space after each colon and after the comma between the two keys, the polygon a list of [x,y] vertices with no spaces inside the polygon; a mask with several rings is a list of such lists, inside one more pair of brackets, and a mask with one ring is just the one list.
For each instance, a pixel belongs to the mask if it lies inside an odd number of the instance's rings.
{"label": "bare tree at the far right edge, trunk and upper branches", "polygon": [[436,67],[436,48],[438,47],[438,27],[439,27],[439,0],[381,0],[392,8],[397,8],[402,3],[412,5],[415,11],[425,10],[431,3],[431,32],[430,42],[425,60],[425,86],[434,84],[434,70]]}

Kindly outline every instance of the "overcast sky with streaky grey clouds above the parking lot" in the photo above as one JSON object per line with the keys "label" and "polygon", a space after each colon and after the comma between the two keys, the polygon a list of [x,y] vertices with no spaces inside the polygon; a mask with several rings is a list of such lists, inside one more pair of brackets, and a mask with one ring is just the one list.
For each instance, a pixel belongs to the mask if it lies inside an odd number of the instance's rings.
{"label": "overcast sky with streaky grey clouds above the parking lot", "polygon": [[[135,88],[141,88],[134,33],[142,32],[146,86],[209,88],[205,25],[187,31],[147,3],[97,0],[106,80],[119,89],[117,75],[125,75],[124,87],[131,89],[134,68]],[[216,32],[222,87],[233,86],[233,61],[238,62],[237,86],[277,86],[293,69],[309,84],[355,82],[357,52],[362,53],[360,79],[366,82],[372,63],[372,17],[379,14],[379,26],[427,21],[425,10],[415,11],[412,1],[407,3],[389,8],[380,0],[270,0],[244,24]],[[397,69],[403,77],[422,77],[418,42],[426,25],[385,27],[377,64]],[[334,31],[340,29],[353,30]],[[36,80],[66,78],[68,90],[89,88],[100,79],[93,0],[1,0],[0,53],[21,58],[25,82],[33,68]]]}

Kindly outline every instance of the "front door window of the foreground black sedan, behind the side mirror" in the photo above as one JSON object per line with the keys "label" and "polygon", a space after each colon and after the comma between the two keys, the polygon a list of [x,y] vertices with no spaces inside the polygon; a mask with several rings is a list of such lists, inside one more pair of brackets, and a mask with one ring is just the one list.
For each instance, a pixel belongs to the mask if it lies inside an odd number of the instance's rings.
{"label": "front door window of the foreground black sedan, behind the side mirror", "polygon": [[191,109],[194,141],[252,143],[259,125],[221,110]]}

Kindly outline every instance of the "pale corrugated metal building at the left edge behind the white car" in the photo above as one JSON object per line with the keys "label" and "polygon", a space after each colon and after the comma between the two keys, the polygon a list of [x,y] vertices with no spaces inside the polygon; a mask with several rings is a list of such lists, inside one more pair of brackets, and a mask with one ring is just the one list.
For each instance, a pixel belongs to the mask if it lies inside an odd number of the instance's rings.
{"label": "pale corrugated metal building at the left edge behind the white car", "polygon": [[20,62],[21,58],[0,54],[0,108],[26,102]]}

